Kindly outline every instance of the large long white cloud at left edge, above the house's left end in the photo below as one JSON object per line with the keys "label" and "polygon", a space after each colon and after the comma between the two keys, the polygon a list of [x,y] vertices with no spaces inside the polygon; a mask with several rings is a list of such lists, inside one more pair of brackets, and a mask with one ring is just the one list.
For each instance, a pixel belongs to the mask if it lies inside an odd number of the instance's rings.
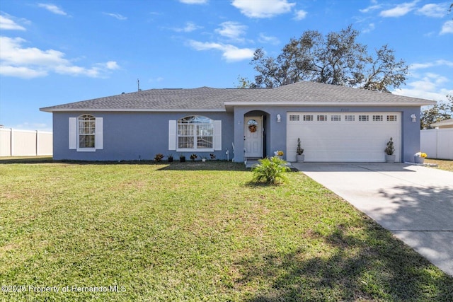
{"label": "large long white cloud at left edge, above the house's left end", "polygon": [[33,79],[55,72],[98,78],[105,76],[108,71],[120,68],[114,61],[98,63],[91,68],[76,66],[64,58],[63,52],[23,47],[25,42],[21,37],[0,37],[0,74],[21,79]]}

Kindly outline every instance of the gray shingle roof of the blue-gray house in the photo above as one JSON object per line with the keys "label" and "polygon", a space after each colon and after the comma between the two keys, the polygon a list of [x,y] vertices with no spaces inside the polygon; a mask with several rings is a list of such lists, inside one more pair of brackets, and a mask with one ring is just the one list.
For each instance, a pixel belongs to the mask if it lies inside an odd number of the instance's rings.
{"label": "gray shingle roof of the blue-gray house", "polygon": [[299,82],[273,89],[149,89],[104,98],[84,100],[41,111],[74,110],[206,110],[224,111],[229,105],[430,105],[429,100],[391,93],[334,86],[324,83]]}

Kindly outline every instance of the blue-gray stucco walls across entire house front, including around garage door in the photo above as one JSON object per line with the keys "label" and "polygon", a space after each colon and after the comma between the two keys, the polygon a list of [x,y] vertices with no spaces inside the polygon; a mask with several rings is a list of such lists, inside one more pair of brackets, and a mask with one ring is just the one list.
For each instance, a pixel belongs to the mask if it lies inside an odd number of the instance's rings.
{"label": "blue-gray stucco walls across entire house front, including around garage door", "polygon": [[[287,154],[287,112],[401,112],[401,158],[399,161],[413,161],[413,154],[420,151],[420,107],[397,106],[236,106],[229,112],[53,112],[54,159],[79,161],[135,161],[151,160],[156,153],[164,156],[173,154],[177,159],[179,152],[168,150],[168,121],[179,120],[190,115],[202,115],[212,120],[222,121],[222,150],[197,153],[209,158],[214,153],[218,159],[226,159],[229,151],[234,160],[243,162],[244,117],[265,116],[265,154],[282,150]],[[103,117],[103,149],[81,152],[69,149],[69,117],[79,115]],[[411,115],[415,114],[416,122]],[[277,115],[281,120],[277,122]],[[382,146],[384,153],[385,146]]]}

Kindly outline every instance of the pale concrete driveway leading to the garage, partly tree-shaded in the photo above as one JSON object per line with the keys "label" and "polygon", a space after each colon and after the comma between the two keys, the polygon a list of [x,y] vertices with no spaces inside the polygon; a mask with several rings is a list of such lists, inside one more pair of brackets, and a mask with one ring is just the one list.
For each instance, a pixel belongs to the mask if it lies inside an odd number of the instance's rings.
{"label": "pale concrete driveway leading to the garage, partly tree-shaded", "polygon": [[453,276],[453,173],[403,163],[293,163]]}

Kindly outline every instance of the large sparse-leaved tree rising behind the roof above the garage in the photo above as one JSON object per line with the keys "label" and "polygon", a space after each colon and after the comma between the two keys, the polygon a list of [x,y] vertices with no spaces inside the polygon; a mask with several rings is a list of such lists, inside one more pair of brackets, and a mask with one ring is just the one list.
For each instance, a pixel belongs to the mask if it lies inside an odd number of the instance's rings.
{"label": "large sparse-leaved tree rising behind the roof above the garage", "polygon": [[258,48],[251,60],[258,74],[255,83],[248,87],[273,88],[316,81],[389,92],[390,88],[401,86],[408,73],[406,62],[397,61],[388,45],[374,55],[368,54],[367,46],[357,42],[358,35],[351,25],[326,36],[307,30],[298,39],[292,38],[276,58]]}

